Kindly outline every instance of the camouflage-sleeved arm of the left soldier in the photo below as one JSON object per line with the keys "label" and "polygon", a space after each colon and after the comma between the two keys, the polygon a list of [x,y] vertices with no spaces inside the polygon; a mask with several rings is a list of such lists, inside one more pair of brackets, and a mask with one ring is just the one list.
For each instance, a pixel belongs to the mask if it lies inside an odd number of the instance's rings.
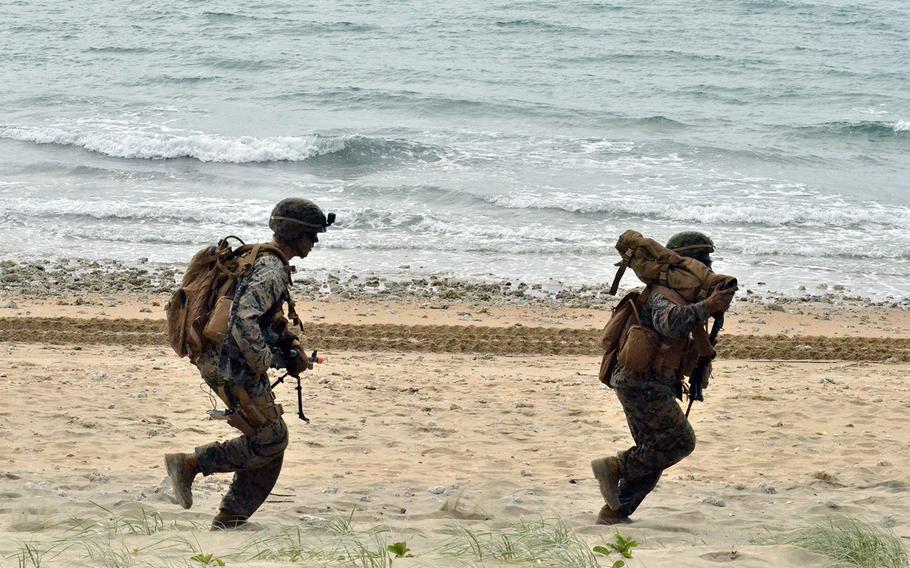
{"label": "camouflage-sleeved arm of the left soldier", "polygon": [[243,353],[247,363],[259,373],[272,364],[272,352],[259,327],[262,316],[287,293],[288,276],[281,261],[263,256],[253,266],[253,273],[238,297],[234,298],[234,314],[230,335]]}

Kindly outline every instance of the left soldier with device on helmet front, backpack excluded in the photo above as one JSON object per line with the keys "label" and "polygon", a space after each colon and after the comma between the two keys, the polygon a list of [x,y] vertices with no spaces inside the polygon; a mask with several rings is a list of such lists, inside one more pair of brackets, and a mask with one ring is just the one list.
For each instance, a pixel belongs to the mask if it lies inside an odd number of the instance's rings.
{"label": "left soldier with device on helmet front, backpack excluded", "polygon": [[[285,368],[297,376],[312,369],[284,318],[284,305],[293,307],[287,263],[294,257],[305,258],[318,242],[317,233],[324,232],[332,220],[334,215],[327,218],[305,199],[285,199],[275,206],[269,221],[274,232],[271,252],[260,253],[252,272],[238,281],[224,342],[211,346],[196,361],[206,384],[230,407],[237,407],[237,416],[228,422],[241,435],[199,446],[192,453],[167,454],[165,465],[174,494],[185,509],[193,504],[191,488],[197,474],[234,472],[212,521],[213,530],[245,524],[281,473],[288,429],[267,373],[270,368]],[[287,349],[289,345],[295,349]],[[296,358],[288,353],[296,353]]]}

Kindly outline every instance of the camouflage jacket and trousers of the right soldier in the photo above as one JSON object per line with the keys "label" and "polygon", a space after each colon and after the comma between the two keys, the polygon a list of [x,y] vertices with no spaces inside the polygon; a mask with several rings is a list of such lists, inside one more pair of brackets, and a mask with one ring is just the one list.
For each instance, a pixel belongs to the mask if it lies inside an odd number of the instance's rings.
{"label": "camouflage jacket and trousers of the right soldier", "polygon": [[[684,337],[708,320],[705,302],[677,305],[652,292],[641,321],[664,337]],[[654,489],[661,473],[692,453],[695,432],[676,402],[680,379],[672,369],[636,374],[617,366],[611,385],[626,414],[635,445],[618,454],[622,515],[631,515]]]}

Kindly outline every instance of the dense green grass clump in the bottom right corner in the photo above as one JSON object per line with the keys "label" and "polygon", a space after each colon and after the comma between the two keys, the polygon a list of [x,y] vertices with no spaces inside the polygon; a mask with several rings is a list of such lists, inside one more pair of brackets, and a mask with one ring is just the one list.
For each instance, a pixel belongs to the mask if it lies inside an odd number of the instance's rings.
{"label": "dense green grass clump in the bottom right corner", "polygon": [[789,544],[859,568],[910,568],[900,537],[852,517],[832,519],[787,537]]}

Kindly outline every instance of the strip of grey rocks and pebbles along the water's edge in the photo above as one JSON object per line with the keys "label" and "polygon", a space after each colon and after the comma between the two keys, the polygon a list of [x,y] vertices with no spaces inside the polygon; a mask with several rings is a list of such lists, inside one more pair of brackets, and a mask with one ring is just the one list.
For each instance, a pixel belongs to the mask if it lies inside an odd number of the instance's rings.
{"label": "strip of grey rocks and pebbles along the water's edge", "polygon": [[[0,298],[58,298],[78,304],[92,302],[98,296],[170,294],[183,271],[182,265],[150,263],[147,259],[139,259],[135,265],[79,258],[43,262],[5,260],[0,262]],[[627,283],[633,281],[634,278],[627,276]],[[452,302],[598,309],[616,302],[616,297],[609,294],[609,283],[563,286],[508,280],[475,282],[436,275],[392,279],[307,271],[294,275],[294,288],[298,298],[309,300],[419,301],[440,306]],[[784,311],[787,304],[910,310],[910,298],[863,298],[850,295],[838,286],[822,286],[814,293],[800,289],[795,295],[747,288],[740,291],[737,301],[779,311]]]}

